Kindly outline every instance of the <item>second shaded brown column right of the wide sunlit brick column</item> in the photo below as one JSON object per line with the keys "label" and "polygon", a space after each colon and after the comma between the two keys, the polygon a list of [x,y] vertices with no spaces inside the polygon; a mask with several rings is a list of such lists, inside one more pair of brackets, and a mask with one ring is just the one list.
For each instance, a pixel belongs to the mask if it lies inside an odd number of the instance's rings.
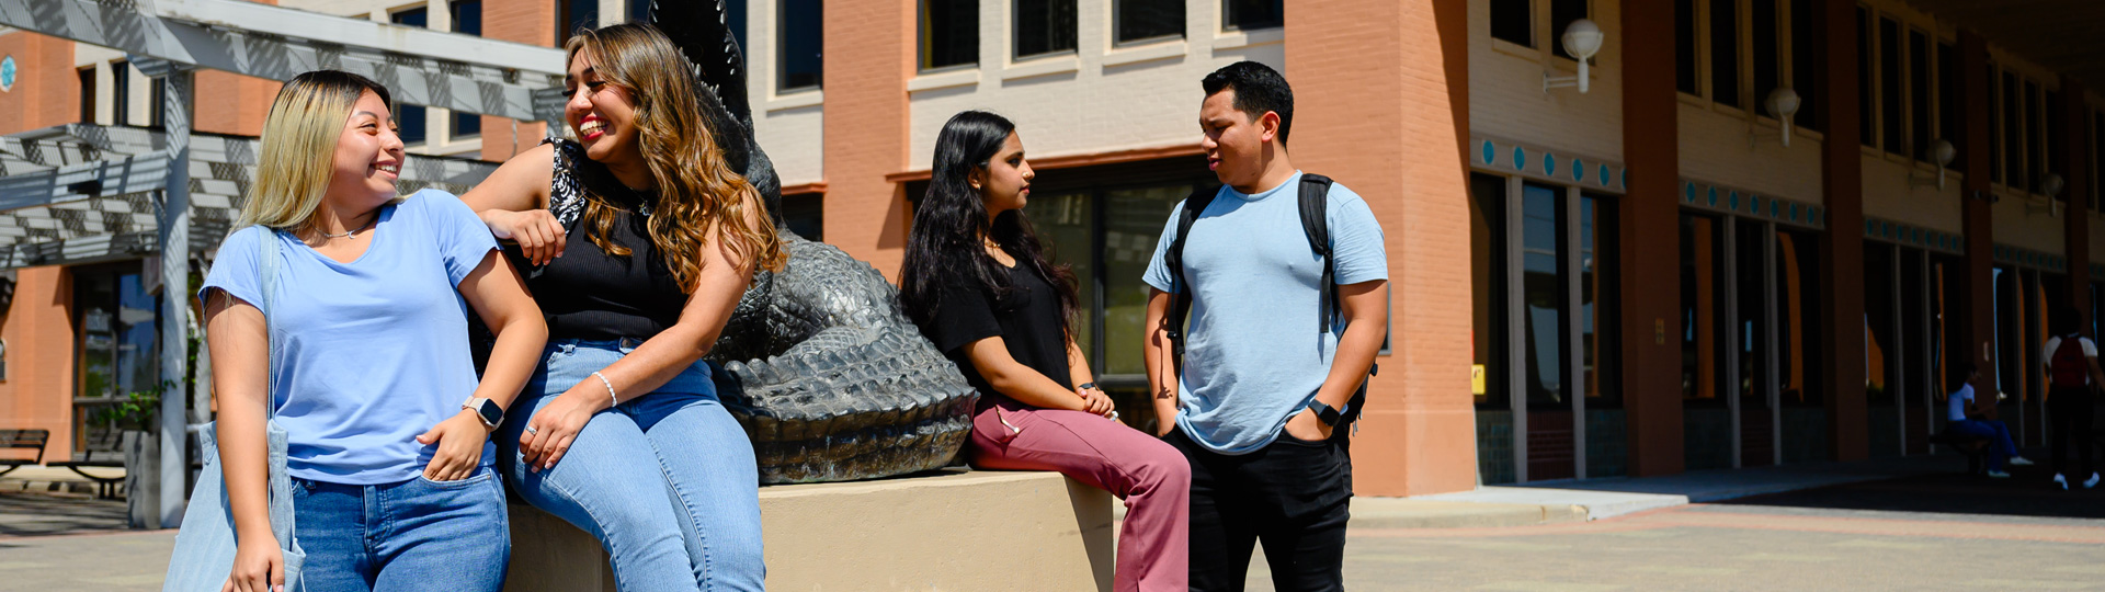
{"label": "second shaded brown column right of the wide sunlit brick column", "polygon": [[1821,335],[1827,373],[1827,453],[1838,461],[1865,459],[1865,346],[1863,346],[1863,152],[1857,124],[1857,2],[1827,0],[1827,76],[1817,97],[1827,101],[1827,141],[1821,143],[1821,194],[1827,196],[1827,232],[1821,234],[1821,318],[1833,327]]}

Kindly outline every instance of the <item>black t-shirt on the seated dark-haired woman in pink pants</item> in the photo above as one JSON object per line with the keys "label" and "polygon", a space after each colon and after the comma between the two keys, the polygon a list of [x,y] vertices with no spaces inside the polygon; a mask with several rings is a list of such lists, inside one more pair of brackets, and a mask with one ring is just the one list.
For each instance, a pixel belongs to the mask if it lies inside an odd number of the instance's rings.
{"label": "black t-shirt on the seated dark-haired woman in pink pants", "polygon": [[1008,268],[1008,278],[1013,289],[1000,299],[970,278],[947,282],[935,318],[920,324],[922,335],[928,335],[928,341],[935,341],[935,348],[983,394],[981,409],[994,400],[1008,400],[987,386],[966,356],[964,346],[987,337],[1002,337],[1010,358],[1061,388],[1074,388],[1067,375],[1067,322],[1059,312],[1059,293],[1023,263]]}

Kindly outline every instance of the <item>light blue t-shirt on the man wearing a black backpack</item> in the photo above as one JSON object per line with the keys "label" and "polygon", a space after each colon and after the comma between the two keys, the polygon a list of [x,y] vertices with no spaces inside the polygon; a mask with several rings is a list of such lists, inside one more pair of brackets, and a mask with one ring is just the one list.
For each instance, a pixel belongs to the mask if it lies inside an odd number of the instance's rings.
{"label": "light blue t-shirt on the man wearing a black backpack", "polygon": [[[1366,200],[1330,183],[1324,202],[1337,284],[1389,278],[1381,223]],[[1156,242],[1143,280],[1172,291],[1164,253],[1177,240],[1179,202]],[[1263,194],[1221,188],[1185,240],[1191,289],[1185,362],[1177,381],[1177,426],[1223,455],[1271,445],[1330,375],[1343,318],[1322,322],[1322,259],[1301,230],[1301,171]]]}

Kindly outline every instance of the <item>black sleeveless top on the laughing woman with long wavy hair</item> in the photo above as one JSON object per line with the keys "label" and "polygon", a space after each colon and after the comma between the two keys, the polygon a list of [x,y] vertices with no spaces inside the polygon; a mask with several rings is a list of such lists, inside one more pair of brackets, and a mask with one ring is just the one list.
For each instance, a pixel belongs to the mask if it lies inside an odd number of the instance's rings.
{"label": "black sleeveless top on the laughing woman with long wavy hair", "polygon": [[[549,213],[568,232],[562,257],[533,268],[518,246],[505,246],[512,263],[526,274],[549,339],[650,339],[680,320],[686,293],[650,242],[650,192],[621,185],[604,164],[585,158],[577,141],[556,143],[556,171],[549,188]],[[585,236],[581,221],[585,194],[615,204],[615,223],[606,242],[627,246],[627,257],[608,255]]]}

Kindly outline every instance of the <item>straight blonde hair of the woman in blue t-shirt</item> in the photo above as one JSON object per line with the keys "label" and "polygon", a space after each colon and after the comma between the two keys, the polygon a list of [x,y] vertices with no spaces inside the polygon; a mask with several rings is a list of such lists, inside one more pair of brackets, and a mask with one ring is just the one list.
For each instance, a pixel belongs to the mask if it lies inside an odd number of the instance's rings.
{"label": "straight blonde hair of the woman in blue t-shirt", "polygon": [[394,112],[387,86],[370,78],[316,70],[284,82],[263,118],[263,154],[257,156],[257,181],[236,228],[269,225],[276,230],[309,230],[318,223],[328,181],[337,173],[337,141],[343,122],[366,91],[381,97]]}

